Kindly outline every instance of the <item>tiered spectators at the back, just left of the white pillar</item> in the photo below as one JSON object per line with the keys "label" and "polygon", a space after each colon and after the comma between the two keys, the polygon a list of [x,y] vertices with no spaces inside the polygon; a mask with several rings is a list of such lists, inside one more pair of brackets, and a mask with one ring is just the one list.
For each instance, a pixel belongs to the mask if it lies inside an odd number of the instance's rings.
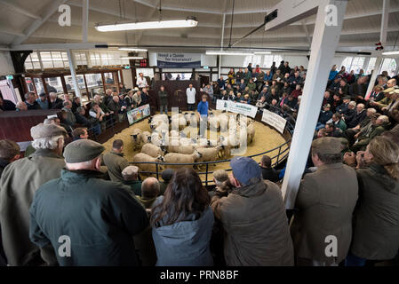
{"label": "tiered spectators at the back, just left of the white pillar", "polygon": [[267,71],[259,65],[251,67],[250,63],[237,72],[231,68],[226,79],[221,75],[216,82],[203,85],[201,91],[206,92],[213,103],[217,99],[231,100],[258,106],[259,112],[268,109],[282,116],[295,117],[306,75],[303,66],[291,68],[288,61],[282,61],[279,67],[273,62]]}

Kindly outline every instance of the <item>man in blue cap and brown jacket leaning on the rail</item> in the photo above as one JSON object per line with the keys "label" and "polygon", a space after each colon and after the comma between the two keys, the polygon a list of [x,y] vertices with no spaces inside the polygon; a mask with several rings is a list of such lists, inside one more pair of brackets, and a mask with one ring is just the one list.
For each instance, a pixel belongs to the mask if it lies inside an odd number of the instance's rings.
{"label": "man in blue cap and brown jacket leaning on the rail", "polygon": [[211,200],[223,225],[227,266],[293,265],[293,248],[283,196],[263,180],[258,162],[236,156],[230,161],[231,192],[218,189]]}

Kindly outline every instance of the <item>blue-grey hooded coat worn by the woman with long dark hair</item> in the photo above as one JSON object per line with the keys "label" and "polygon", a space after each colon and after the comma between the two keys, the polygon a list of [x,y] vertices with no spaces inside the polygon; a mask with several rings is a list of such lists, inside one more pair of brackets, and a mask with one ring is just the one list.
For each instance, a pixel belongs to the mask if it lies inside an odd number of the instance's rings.
{"label": "blue-grey hooded coat worn by the woman with long dark hair", "polygon": [[[163,200],[164,196],[159,196],[154,206]],[[213,265],[210,241],[214,218],[211,207],[204,209],[201,216],[190,214],[184,221],[172,225],[163,225],[164,220],[152,230],[157,266]]]}

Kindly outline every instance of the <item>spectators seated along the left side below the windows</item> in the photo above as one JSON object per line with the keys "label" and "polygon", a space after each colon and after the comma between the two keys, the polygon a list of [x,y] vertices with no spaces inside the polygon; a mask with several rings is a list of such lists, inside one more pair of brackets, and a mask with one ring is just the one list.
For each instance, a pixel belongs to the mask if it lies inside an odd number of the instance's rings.
{"label": "spectators seated along the left side below the windows", "polygon": [[57,93],[50,92],[47,99],[45,93],[37,96],[35,92],[29,91],[24,98],[24,101],[15,105],[11,100],[0,96],[0,112],[60,109],[56,122],[65,128],[69,135],[72,135],[76,128],[85,128],[91,136],[98,136],[110,125],[126,120],[128,111],[148,104],[149,93],[148,87],[128,90],[121,84],[119,92],[107,89],[103,96],[96,94],[92,100],[85,103],[79,97],[68,93],[59,98]]}

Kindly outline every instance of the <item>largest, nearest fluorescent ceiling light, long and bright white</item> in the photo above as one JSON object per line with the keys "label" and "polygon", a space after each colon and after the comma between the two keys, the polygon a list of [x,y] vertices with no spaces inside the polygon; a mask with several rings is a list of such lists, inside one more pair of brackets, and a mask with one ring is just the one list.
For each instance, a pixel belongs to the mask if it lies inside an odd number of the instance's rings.
{"label": "largest, nearest fluorescent ceiling light, long and bright white", "polygon": [[198,21],[188,20],[159,20],[159,21],[143,21],[138,23],[115,23],[97,25],[95,28],[100,32],[113,32],[132,29],[150,29],[150,28],[194,28]]}

